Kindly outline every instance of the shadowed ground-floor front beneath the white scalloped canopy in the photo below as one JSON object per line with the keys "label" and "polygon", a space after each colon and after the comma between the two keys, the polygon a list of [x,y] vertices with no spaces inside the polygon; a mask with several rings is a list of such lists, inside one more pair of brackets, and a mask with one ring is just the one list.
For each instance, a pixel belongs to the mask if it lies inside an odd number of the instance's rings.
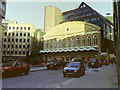
{"label": "shadowed ground-floor front beneath the white scalloped canopy", "polygon": [[44,62],[55,59],[62,59],[65,61],[71,61],[75,58],[81,58],[89,61],[90,58],[98,57],[98,51],[72,51],[72,52],[57,52],[57,53],[42,53],[42,59]]}

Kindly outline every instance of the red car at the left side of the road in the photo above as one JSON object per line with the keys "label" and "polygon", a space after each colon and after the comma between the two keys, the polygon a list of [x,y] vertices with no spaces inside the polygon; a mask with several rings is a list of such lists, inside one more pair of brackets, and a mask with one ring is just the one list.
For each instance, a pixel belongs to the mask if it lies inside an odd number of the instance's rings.
{"label": "red car at the left side of the road", "polygon": [[2,71],[3,76],[18,75],[20,73],[25,73],[25,75],[28,75],[30,67],[26,62],[23,61],[10,61],[3,63],[0,70]]}

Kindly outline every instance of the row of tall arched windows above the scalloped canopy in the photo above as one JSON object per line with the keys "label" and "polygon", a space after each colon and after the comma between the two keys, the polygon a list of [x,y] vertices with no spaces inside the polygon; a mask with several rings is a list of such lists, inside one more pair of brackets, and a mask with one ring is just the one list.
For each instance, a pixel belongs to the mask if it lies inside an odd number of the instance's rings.
{"label": "row of tall arched windows above the scalloped canopy", "polygon": [[56,39],[46,41],[46,48],[66,48],[66,47],[80,47],[80,46],[97,46],[98,45],[98,37],[97,35],[93,36],[82,36],[75,38],[68,38],[57,41]]}

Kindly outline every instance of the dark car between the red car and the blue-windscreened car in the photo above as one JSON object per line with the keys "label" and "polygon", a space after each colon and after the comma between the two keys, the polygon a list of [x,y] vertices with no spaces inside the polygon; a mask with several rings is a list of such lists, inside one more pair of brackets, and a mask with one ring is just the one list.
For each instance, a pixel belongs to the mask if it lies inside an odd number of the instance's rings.
{"label": "dark car between the red car and the blue-windscreened car", "polygon": [[47,62],[47,69],[63,68],[68,62],[64,60],[50,60]]}

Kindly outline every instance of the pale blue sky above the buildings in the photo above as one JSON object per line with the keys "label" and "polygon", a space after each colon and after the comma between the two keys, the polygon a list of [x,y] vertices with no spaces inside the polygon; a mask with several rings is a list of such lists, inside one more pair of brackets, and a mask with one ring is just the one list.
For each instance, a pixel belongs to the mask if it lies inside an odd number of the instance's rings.
{"label": "pale blue sky above the buildings", "polygon": [[[45,6],[56,6],[61,12],[77,8],[79,2],[7,2],[6,19],[16,20],[18,23],[33,24],[36,29],[44,29]],[[103,16],[113,13],[112,2],[85,2]]]}

